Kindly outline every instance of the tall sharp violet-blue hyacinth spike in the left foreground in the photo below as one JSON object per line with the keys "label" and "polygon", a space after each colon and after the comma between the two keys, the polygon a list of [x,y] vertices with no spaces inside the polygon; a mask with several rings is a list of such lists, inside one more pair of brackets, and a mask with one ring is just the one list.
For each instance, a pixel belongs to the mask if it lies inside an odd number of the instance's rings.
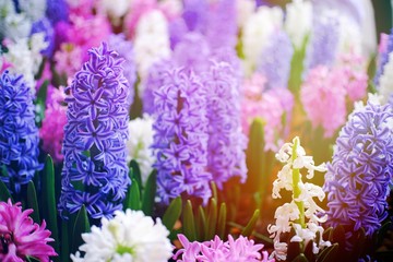
{"label": "tall sharp violet-blue hyacinth spike in the left foreground", "polygon": [[63,217],[82,205],[91,217],[121,210],[130,184],[126,163],[129,84],[123,59],[106,43],[88,51],[90,60],[67,87],[62,191]]}

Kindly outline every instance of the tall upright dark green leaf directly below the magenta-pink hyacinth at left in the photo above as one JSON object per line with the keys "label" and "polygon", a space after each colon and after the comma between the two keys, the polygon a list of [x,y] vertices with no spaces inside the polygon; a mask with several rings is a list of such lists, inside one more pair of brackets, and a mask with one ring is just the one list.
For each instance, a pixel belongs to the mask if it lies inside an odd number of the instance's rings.
{"label": "tall upright dark green leaf directly below the magenta-pink hyacinth at left", "polygon": [[47,155],[44,172],[41,177],[43,181],[43,213],[44,218],[47,223],[47,228],[51,231],[50,237],[55,241],[50,245],[55,248],[56,252],[59,253],[59,234],[57,224],[57,207],[55,199],[55,170],[53,162],[50,155]]}

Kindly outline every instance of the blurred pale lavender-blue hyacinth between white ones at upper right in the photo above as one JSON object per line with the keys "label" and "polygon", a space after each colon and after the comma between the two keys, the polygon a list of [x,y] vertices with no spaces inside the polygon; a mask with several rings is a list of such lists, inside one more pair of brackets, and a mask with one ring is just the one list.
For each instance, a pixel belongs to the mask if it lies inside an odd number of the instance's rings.
{"label": "blurred pale lavender-blue hyacinth between white ones at upper right", "polygon": [[311,44],[307,53],[308,68],[331,67],[337,55],[340,23],[336,17],[314,20]]}

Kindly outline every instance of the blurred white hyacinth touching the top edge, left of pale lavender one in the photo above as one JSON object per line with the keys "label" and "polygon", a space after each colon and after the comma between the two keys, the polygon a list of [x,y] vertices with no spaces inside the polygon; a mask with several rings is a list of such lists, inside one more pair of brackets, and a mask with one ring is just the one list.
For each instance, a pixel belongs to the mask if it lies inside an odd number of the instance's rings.
{"label": "blurred white hyacinth touching the top edge, left of pale lavender one", "polygon": [[309,1],[294,0],[287,4],[285,29],[293,44],[299,49],[312,26],[312,4]]}

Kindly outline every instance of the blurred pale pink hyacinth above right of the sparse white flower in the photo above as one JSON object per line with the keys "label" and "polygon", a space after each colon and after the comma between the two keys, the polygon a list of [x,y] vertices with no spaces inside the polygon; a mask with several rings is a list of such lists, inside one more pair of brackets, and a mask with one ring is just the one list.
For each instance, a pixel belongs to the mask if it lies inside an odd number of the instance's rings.
{"label": "blurred pale pink hyacinth above right of the sparse white flower", "polygon": [[324,136],[331,138],[345,122],[347,80],[340,69],[325,66],[313,68],[307,75],[300,97],[313,128],[322,126]]}

